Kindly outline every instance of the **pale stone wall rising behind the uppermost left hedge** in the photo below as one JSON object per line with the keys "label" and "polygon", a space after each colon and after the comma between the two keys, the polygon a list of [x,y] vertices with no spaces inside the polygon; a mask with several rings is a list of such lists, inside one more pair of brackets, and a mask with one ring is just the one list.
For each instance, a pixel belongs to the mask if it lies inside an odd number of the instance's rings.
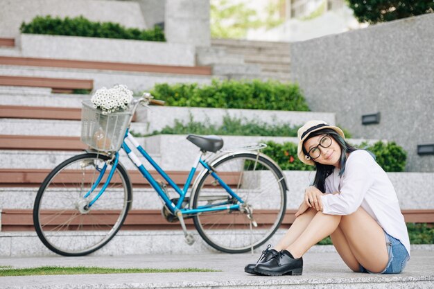
{"label": "pale stone wall rising behind the uppermost left hedge", "polygon": [[36,16],[77,17],[110,21],[126,27],[144,29],[146,24],[139,3],[103,0],[1,0],[0,37],[19,35],[21,22]]}

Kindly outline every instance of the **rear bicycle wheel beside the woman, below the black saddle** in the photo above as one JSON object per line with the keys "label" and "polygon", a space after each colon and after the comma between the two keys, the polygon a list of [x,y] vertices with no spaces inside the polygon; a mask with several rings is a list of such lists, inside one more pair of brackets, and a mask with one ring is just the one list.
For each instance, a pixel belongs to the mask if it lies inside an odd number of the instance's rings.
{"label": "rear bicycle wheel beside the woman, below the black saddle", "polygon": [[[280,168],[266,155],[254,152],[223,156],[210,165],[244,204],[241,210],[198,213],[193,217],[198,233],[222,252],[243,253],[259,247],[284,218],[286,182]],[[237,204],[209,172],[200,178],[193,194],[193,209]]]}

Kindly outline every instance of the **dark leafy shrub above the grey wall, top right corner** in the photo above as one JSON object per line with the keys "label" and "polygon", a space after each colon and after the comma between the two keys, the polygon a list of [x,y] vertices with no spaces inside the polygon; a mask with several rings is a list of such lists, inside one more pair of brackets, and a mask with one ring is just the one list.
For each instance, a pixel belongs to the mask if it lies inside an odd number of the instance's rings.
{"label": "dark leafy shrub above the grey wall, top right corner", "polygon": [[432,0],[348,0],[359,22],[375,24],[434,12]]}

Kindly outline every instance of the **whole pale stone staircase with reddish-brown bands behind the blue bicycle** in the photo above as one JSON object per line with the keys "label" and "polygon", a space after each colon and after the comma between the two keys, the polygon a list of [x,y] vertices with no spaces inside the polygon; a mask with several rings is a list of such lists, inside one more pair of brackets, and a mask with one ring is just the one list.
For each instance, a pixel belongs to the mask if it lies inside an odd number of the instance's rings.
{"label": "whole pale stone staircase with reddish-brown bands behind the blue bicycle", "polygon": [[[160,62],[147,64],[150,60],[134,58],[134,55],[129,55],[128,63],[119,62],[119,58],[106,62],[103,58],[107,55],[95,55],[96,61],[92,61],[81,59],[80,55],[73,54],[73,51],[62,50],[53,52],[53,58],[47,59],[40,54],[44,51],[31,49],[34,37],[24,38],[26,44],[20,44],[23,46],[12,42],[1,46],[1,43],[6,42],[0,42],[0,256],[53,254],[42,245],[33,230],[32,209],[37,189],[49,171],[86,148],[80,142],[79,114],[82,100],[89,99],[89,95],[71,94],[74,89],[97,89],[121,83],[128,85],[133,91],[139,91],[150,89],[158,82],[209,83],[211,78],[216,76],[285,81],[290,79],[289,44],[284,43],[213,40],[211,47],[196,50],[196,60],[184,59],[184,63],[177,60],[179,57],[163,59],[164,55],[170,53],[166,51],[158,54],[161,51],[156,47],[153,53],[162,57]],[[88,46],[96,45],[92,42],[86,43]],[[133,45],[129,42],[122,43],[126,46]],[[177,49],[191,51],[189,47],[177,46]],[[137,60],[137,63],[132,62],[133,60]],[[166,125],[173,125],[175,120],[188,121],[191,116],[195,121],[214,125],[222,123],[224,116],[261,120],[265,123],[279,121],[292,125],[301,125],[310,119],[335,123],[335,115],[327,112],[152,107],[151,110],[140,108],[137,111],[131,129],[147,134],[161,130]],[[139,143],[155,161],[164,170],[168,170],[168,174],[180,185],[184,184],[183,181],[198,153],[198,148],[185,138],[184,135],[138,138]],[[223,139],[227,146],[267,140],[296,142],[295,138],[283,137]],[[363,140],[351,141],[360,143]],[[162,203],[157,194],[144,185],[146,182],[123,152],[121,162],[132,177],[132,184],[135,184],[132,211],[114,240],[95,254],[213,252],[197,235],[197,242],[193,246],[185,245],[179,224],[164,220],[160,213]],[[148,164],[146,168],[151,174],[155,173]],[[285,175],[290,195],[282,228],[292,223],[293,213],[302,200],[304,188],[311,183],[313,177],[312,173],[303,171],[286,171]],[[430,211],[431,208],[428,207],[428,204],[434,202],[434,195],[429,194],[429,189],[426,189],[434,186],[432,174],[389,175],[399,188],[401,207],[406,210],[406,219],[434,222],[433,210]],[[408,194],[408,191],[423,192],[424,202],[419,201],[421,198],[412,198],[414,195]],[[169,194],[173,194],[173,191],[169,191]],[[187,220],[186,225],[194,232],[191,220]],[[271,242],[275,242],[284,231],[285,229],[279,230]],[[158,246],[153,245],[148,251],[150,244]],[[174,247],[173,244],[180,245]],[[147,248],[145,251],[144,247]]]}

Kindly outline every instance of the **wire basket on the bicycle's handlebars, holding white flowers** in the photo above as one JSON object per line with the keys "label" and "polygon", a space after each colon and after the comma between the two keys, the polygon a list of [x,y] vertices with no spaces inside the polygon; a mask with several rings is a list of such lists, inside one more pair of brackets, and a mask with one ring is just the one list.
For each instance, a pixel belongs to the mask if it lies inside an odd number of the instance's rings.
{"label": "wire basket on the bicycle's handlebars, holding white flowers", "polygon": [[81,141],[103,152],[119,150],[132,112],[103,114],[90,100],[83,100],[82,104]]}

